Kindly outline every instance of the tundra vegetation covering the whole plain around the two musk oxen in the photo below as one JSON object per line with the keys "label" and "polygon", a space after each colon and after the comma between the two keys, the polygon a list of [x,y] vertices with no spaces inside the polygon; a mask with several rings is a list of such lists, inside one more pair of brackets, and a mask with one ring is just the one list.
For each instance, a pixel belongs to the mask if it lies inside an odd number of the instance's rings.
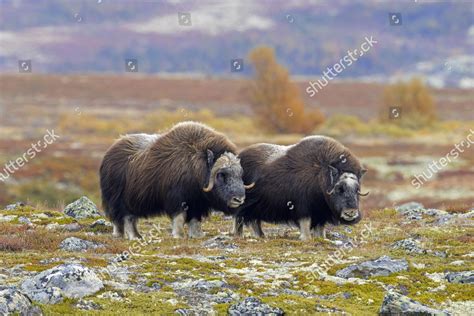
{"label": "tundra vegetation covering the whole plain around the two musk oxen", "polygon": [[[304,93],[306,82],[295,84]],[[262,128],[240,93],[248,86],[244,80],[32,74],[1,76],[0,85],[6,87],[1,109],[8,105],[0,116],[1,161],[21,156],[45,128],[57,126],[61,135],[0,182],[0,208],[26,202],[0,210],[0,284],[21,288],[25,280],[63,264],[80,264],[103,282],[103,288],[81,299],[34,302],[44,314],[170,314],[179,309],[224,314],[252,297],[288,314],[342,310],[365,315],[380,311],[389,289],[453,314],[473,309],[472,284],[458,283],[474,269],[472,151],[460,153],[419,190],[410,183],[474,126],[473,113],[466,110],[472,91],[430,90],[438,119],[416,128],[377,116],[382,106],[388,112],[384,86],[335,82],[318,93],[319,104],[305,99],[308,108],[317,105],[326,114],[324,123],[307,133],[336,138],[369,170],[363,180],[370,196],[361,202],[362,221],[329,226],[328,240],[301,242],[297,229],[267,223],[265,239],[232,239],[231,218],[211,214],[203,224],[206,235],[197,239],[173,239],[166,217],[143,221],[138,228],[146,242],[140,244],[112,238],[100,207],[100,217],[76,219],[64,213],[65,205],[84,195],[101,204],[98,169],[118,135],[163,133],[185,120],[225,133],[238,148],[260,142],[290,145],[305,135]],[[396,209],[410,201],[424,207]],[[367,242],[345,247],[362,235],[365,223],[373,231]],[[133,255],[127,259],[125,251]],[[374,261],[384,256],[392,260]],[[335,257],[336,263],[327,264]],[[365,279],[362,269],[373,262],[394,262],[397,269],[387,271],[396,272]],[[328,276],[313,273],[319,263],[322,270],[329,267]],[[115,268],[107,273],[106,267]],[[343,269],[358,279],[336,277]]]}

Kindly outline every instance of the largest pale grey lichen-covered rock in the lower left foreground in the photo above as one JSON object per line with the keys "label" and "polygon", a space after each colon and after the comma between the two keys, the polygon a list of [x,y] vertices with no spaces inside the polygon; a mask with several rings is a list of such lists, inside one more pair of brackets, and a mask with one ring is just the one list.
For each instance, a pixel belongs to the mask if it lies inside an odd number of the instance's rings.
{"label": "largest pale grey lichen-covered rock in the lower left foreground", "polygon": [[63,264],[26,279],[22,291],[42,304],[56,304],[64,297],[82,298],[104,287],[99,277],[80,264]]}

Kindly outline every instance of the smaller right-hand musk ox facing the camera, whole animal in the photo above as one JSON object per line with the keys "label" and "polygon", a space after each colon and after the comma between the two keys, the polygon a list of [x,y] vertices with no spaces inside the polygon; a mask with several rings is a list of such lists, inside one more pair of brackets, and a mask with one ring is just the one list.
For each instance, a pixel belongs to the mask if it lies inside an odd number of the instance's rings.
{"label": "smaller right-hand musk ox facing the camera, whole animal", "polygon": [[[360,181],[366,170],[342,144],[310,136],[291,146],[255,144],[240,154],[244,181],[255,183],[235,213],[234,234],[249,225],[263,237],[261,222],[295,224],[300,239],[325,238],[324,225],[360,221]],[[368,193],[367,193],[368,194]]]}

